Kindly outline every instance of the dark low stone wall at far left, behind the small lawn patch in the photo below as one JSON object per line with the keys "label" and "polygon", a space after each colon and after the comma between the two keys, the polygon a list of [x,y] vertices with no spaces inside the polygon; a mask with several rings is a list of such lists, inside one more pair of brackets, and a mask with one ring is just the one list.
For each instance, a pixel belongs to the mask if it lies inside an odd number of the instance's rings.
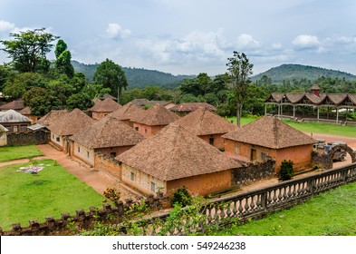
{"label": "dark low stone wall at far left, behind the small lawn patch", "polygon": [[7,133],[7,145],[44,144],[49,142],[48,132]]}

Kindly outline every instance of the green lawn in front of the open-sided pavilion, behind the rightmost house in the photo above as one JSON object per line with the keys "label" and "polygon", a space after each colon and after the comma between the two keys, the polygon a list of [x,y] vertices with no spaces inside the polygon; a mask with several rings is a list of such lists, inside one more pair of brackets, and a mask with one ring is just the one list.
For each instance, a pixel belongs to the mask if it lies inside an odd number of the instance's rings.
{"label": "green lawn in front of the open-sided pavilion, behind the rightmost house", "polygon": [[[257,118],[252,116],[244,116],[241,118],[241,124],[245,125],[247,123],[254,122],[256,119]],[[227,118],[227,121],[233,121],[236,124],[236,117]],[[341,126],[321,122],[293,122],[288,120],[285,120],[284,122],[301,132],[313,132],[356,138],[356,127],[354,126]]]}

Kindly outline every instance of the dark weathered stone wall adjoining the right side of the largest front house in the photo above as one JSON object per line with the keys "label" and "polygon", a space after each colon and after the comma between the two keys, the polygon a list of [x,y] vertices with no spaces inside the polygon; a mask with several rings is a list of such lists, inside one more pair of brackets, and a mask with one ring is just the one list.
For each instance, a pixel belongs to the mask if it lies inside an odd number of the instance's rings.
{"label": "dark weathered stone wall adjoining the right side of the largest front house", "polygon": [[247,163],[243,168],[231,170],[231,187],[239,187],[248,183],[272,178],[275,176],[275,161]]}

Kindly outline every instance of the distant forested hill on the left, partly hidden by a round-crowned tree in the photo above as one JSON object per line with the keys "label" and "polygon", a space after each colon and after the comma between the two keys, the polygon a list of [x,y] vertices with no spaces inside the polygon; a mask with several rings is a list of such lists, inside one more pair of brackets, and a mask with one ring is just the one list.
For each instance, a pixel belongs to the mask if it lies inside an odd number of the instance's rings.
{"label": "distant forested hill on the left, partly hidden by a round-crowned tree", "polygon": [[[99,64],[82,64],[77,61],[72,61],[75,72],[82,72],[88,81],[91,82],[92,76]],[[193,78],[192,75],[172,75],[171,73],[162,73],[139,68],[122,67],[125,72],[129,87],[145,87],[146,85],[158,85],[161,87],[173,88],[177,83],[186,79]]]}

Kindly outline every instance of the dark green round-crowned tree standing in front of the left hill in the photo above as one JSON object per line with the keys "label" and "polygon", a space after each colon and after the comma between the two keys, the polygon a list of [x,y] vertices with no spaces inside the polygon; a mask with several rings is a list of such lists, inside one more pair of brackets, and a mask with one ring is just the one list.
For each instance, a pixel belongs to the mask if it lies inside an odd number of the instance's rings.
{"label": "dark green round-crowned tree standing in front of the left hill", "polygon": [[124,71],[118,64],[109,59],[99,64],[94,73],[93,81],[102,84],[104,88],[110,88],[113,96],[116,95],[117,91],[118,103],[120,103],[122,89],[126,89],[128,86]]}

